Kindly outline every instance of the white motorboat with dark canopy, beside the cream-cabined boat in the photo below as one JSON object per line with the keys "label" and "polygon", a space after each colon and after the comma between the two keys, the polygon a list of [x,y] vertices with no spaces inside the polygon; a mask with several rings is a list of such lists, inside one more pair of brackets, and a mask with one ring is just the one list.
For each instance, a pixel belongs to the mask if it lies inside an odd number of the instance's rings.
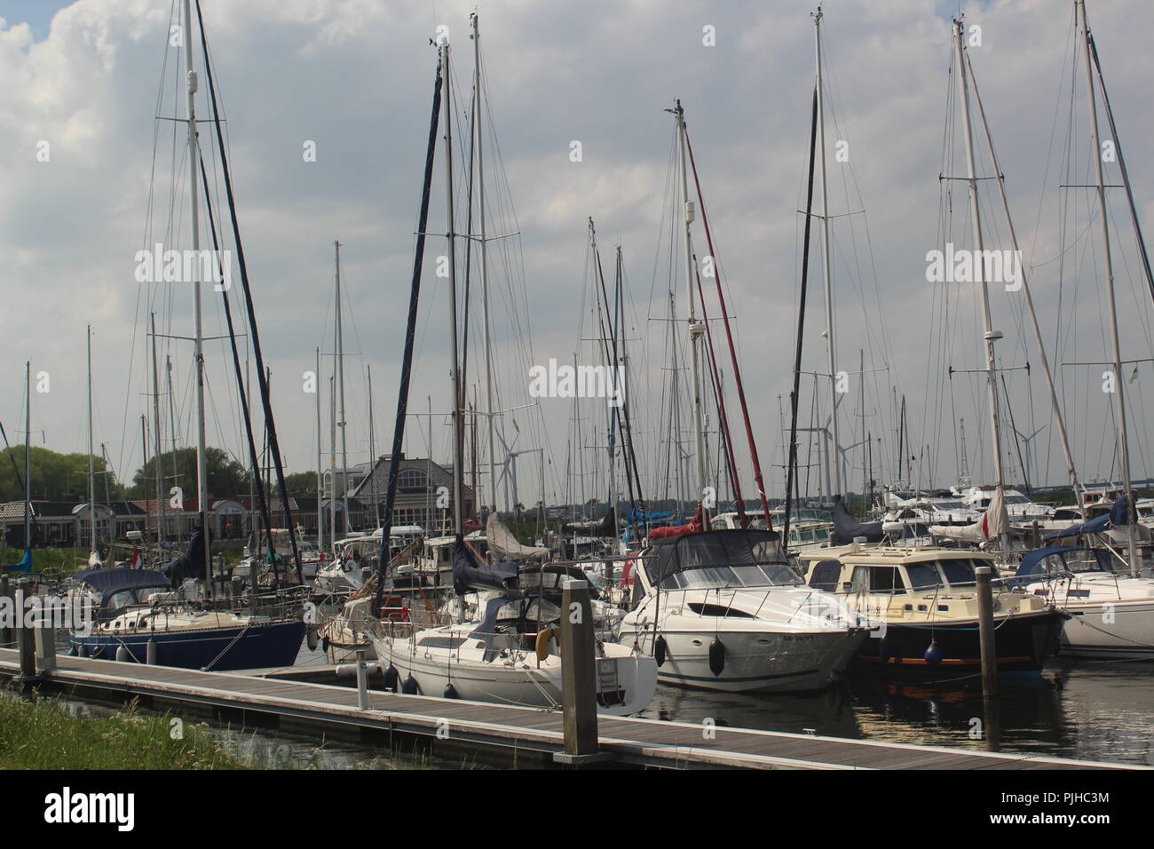
{"label": "white motorboat with dark canopy, beside the cream-cabined boat", "polygon": [[630,560],[622,643],[655,658],[662,683],[729,692],[820,690],[849,665],[868,623],[807,587],[780,535],[692,530]]}

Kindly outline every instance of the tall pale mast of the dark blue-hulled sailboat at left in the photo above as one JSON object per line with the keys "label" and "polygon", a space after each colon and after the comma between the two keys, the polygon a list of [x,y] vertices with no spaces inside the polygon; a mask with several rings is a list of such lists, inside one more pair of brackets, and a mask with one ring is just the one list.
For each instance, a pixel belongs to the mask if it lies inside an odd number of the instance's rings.
{"label": "tall pale mast of the dark blue-hulled sailboat at left", "polygon": [[[200,254],[201,230],[198,194],[196,191],[196,166],[201,161],[200,142],[196,133],[196,69],[193,65],[193,16],[189,0],[183,2],[185,36],[185,117],[188,124],[188,203],[192,226],[192,250]],[[201,281],[198,263],[193,266],[193,313],[194,313],[194,359],[196,360],[196,508],[200,513],[201,533],[204,534],[204,581],[205,594],[212,595],[212,546],[208,538],[209,477],[204,444],[204,328],[201,310]]]}

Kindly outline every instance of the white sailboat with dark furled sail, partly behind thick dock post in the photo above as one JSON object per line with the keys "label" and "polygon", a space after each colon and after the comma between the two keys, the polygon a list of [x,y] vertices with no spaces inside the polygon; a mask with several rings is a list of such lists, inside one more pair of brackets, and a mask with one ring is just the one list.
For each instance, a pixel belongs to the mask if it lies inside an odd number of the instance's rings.
{"label": "white sailboat with dark furled sail, partly behind thick dock post", "polygon": [[[474,49],[474,131],[479,131],[480,31],[477,15],[471,16]],[[554,707],[561,701],[561,656],[554,626],[560,620],[560,586],[562,576],[583,578],[576,567],[526,566],[516,563],[484,564],[464,537],[463,521],[463,410],[460,359],[457,350],[456,252],[454,240],[452,194],[452,98],[450,92],[449,44],[439,45],[439,64],[425,163],[425,183],[420,224],[410,298],[409,327],[402,366],[400,393],[394,429],[382,530],[382,571],[377,581],[376,609],[381,618],[374,621],[372,640],[376,656],[385,669],[385,685],[407,693],[425,693],[478,701]],[[384,569],[388,561],[388,537],[396,499],[400,445],[404,437],[409,402],[409,373],[413,355],[417,304],[420,291],[424,233],[427,230],[429,185],[436,151],[440,107],[444,111],[444,155],[447,181],[448,258],[449,258],[449,338],[454,426],[454,542],[452,574],[457,596],[480,595],[480,616],[444,624],[434,611],[422,615],[415,608],[412,618],[425,620],[395,623],[383,617],[383,598],[394,587],[394,575]],[[484,208],[484,198],[481,200]],[[484,256],[484,254],[482,254]],[[494,526],[495,527],[495,526]],[[463,608],[464,605],[458,605]],[[631,714],[643,709],[657,687],[652,658],[608,641],[598,641],[598,707],[604,713]]]}

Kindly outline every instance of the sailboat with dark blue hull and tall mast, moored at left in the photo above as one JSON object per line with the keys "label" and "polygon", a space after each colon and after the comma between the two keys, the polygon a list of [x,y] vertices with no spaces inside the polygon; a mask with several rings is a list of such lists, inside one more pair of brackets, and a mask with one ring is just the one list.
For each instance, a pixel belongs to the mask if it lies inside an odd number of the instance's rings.
{"label": "sailboat with dark blue hull and tall mast, moored at left", "polygon": [[[195,95],[197,91],[197,75],[193,62],[193,18],[190,0],[183,0],[181,6],[182,21],[181,32],[185,37],[185,79],[187,80],[186,117],[187,146],[189,162],[188,192],[192,208],[192,250],[200,253],[200,214],[198,214],[198,189],[197,186],[203,179],[207,184],[208,176],[204,171],[203,161],[200,155],[200,141],[197,134]],[[197,2],[197,13],[200,3]],[[197,14],[200,17],[200,14]],[[207,36],[201,20],[201,39],[207,44]],[[212,124],[216,127],[217,140],[220,141],[219,113],[216,103],[216,89],[212,77],[212,66],[209,60],[208,50],[204,51],[204,69],[211,92],[211,105],[213,109]],[[269,431],[270,445],[275,450],[277,471],[280,491],[285,492],[284,479],[279,466],[279,455],[276,453],[276,431],[272,424],[271,408],[269,405],[267,375],[261,362],[260,337],[253,313],[250,291],[247,271],[245,269],[243,248],[240,241],[239,228],[237,226],[235,210],[232,201],[232,185],[227,171],[226,149],[220,146],[218,150],[224,167],[224,181],[228,193],[230,211],[233,213],[233,225],[235,245],[240,260],[241,281],[246,304],[248,307],[249,330],[252,332],[253,345],[257,356],[258,373],[261,377],[261,393],[264,402],[265,423]],[[212,210],[208,192],[205,192],[205,209],[208,219],[212,228],[213,247],[217,247],[217,229],[212,217]],[[219,253],[219,252],[216,252]],[[231,670],[250,669],[258,666],[286,666],[295,661],[297,653],[305,636],[305,621],[301,617],[300,601],[292,596],[273,595],[272,597],[258,597],[250,594],[247,598],[248,605],[245,609],[232,609],[227,598],[213,598],[212,590],[212,561],[209,541],[209,529],[207,523],[208,511],[208,475],[205,470],[205,439],[204,439],[204,359],[203,359],[203,328],[201,321],[201,293],[203,281],[201,274],[194,270],[194,280],[190,281],[194,292],[194,315],[195,315],[195,403],[196,403],[196,478],[197,478],[197,509],[200,517],[196,528],[189,541],[188,550],[174,561],[168,564],[165,572],[170,580],[171,590],[155,591],[148,594],[143,599],[137,598],[137,604],[129,606],[123,612],[111,619],[89,624],[87,627],[74,631],[70,634],[72,650],[77,655],[87,655],[105,660],[120,660],[136,663],[155,663],[166,666],[181,666],[204,670]],[[239,356],[235,348],[235,335],[232,330],[231,312],[227,306],[227,291],[225,291],[225,312],[230,321],[230,340],[232,342],[233,365],[239,374]],[[89,357],[91,360],[91,356]],[[248,416],[248,407],[243,393],[241,393],[241,404],[248,427],[248,442],[250,459],[254,471],[258,468],[255,462],[255,442],[252,437],[252,425]],[[91,368],[89,370],[89,419],[91,422]],[[91,441],[91,424],[89,425],[89,440]],[[91,462],[91,457],[90,457]],[[91,496],[91,479],[89,483]],[[90,498],[91,500],[91,498]],[[295,553],[295,538],[293,536],[293,524],[288,514],[288,499],[283,498],[286,521],[288,527],[290,542]],[[261,502],[264,513],[265,527],[270,527],[267,502],[263,486],[261,487]],[[95,520],[93,520],[95,539]]]}

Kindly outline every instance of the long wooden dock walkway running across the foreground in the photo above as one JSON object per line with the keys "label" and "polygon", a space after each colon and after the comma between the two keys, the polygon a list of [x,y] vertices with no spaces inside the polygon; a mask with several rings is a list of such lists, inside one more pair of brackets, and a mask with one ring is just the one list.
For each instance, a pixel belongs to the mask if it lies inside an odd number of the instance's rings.
{"label": "long wooden dock walkway running across the foreground", "polygon": [[[0,678],[20,673],[20,657],[0,649]],[[240,672],[60,655],[36,686],[76,698],[125,701],[178,716],[247,727],[352,737],[379,745],[421,746],[437,758],[501,766],[553,766],[563,751],[560,712],[370,691]],[[1141,769],[1131,765],[1029,754],[914,746],[659,720],[599,717],[602,767],[754,769]]]}

